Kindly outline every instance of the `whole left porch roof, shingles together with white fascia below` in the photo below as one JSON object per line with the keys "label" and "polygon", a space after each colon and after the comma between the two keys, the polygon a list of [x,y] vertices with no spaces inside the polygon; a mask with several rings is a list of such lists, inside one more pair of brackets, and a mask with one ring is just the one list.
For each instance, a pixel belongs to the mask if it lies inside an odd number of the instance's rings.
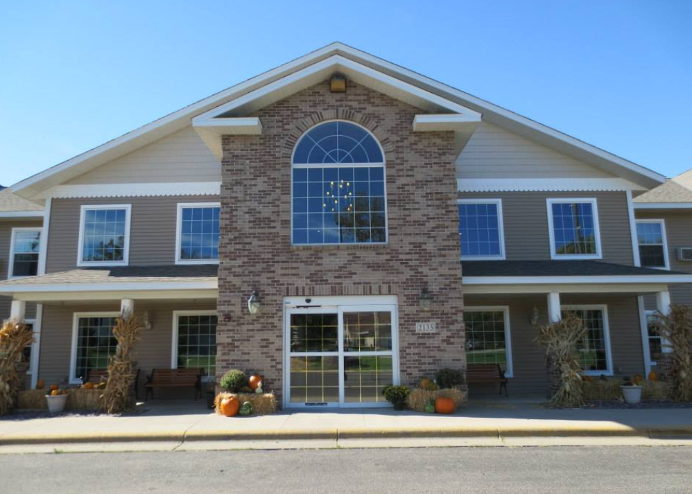
{"label": "whole left porch roof, shingles together with white fascia below", "polygon": [[216,297],[217,265],[85,267],[0,282],[17,300]]}

